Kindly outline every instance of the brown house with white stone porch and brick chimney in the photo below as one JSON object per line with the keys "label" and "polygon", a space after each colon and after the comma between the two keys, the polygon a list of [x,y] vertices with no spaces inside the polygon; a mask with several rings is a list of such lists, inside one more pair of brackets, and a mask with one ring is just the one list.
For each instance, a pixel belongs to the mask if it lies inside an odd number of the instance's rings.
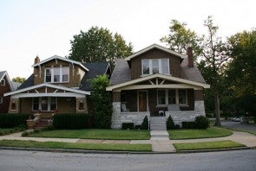
{"label": "brown house with white stone porch and brick chimney", "polygon": [[143,118],[171,115],[174,123],[205,116],[203,89],[209,88],[187,56],[152,45],[116,60],[107,91],[113,94],[112,128],[121,123],[141,124]]}

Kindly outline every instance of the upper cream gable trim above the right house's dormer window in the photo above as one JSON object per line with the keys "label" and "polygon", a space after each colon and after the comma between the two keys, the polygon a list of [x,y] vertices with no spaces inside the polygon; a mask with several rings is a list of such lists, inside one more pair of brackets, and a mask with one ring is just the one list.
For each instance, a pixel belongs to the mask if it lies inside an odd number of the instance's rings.
{"label": "upper cream gable trim above the right house's dormer window", "polygon": [[131,60],[131,59],[135,58],[136,56],[138,56],[140,54],[143,54],[143,53],[145,53],[145,52],[147,52],[147,51],[149,51],[149,50],[151,50],[153,48],[158,48],[158,49],[160,49],[162,51],[165,51],[165,52],[167,52],[169,54],[174,54],[175,56],[178,56],[181,59],[186,58],[186,55],[184,55],[184,54],[180,54],[180,53],[177,53],[177,52],[175,52],[173,50],[170,50],[168,48],[164,48],[164,47],[162,47],[160,45],[153,44],[153,45],[151,45],[151,46],[149,46],[147,48],[141,49],[140,51],[136,52],[135,54],[132,54],[132,55],[128,56],[127,58],[125,58],[125,60]]}

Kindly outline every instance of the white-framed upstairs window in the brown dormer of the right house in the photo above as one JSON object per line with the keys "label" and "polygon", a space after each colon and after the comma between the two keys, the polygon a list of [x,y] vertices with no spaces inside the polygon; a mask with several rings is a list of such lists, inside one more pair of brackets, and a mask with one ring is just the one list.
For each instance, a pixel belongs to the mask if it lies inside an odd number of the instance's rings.
{"label": "white-framed upstairs window in the brown dormer of the right house", "polygon": [[145,59],[141,60],[142,75],[154,73],[170,74],[169,59]]}

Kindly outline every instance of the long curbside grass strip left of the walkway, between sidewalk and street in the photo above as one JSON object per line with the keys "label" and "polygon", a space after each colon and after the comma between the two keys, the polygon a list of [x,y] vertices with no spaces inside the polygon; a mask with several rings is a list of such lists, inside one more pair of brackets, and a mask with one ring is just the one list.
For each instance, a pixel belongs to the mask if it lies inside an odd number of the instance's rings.
{"label": "long curbside grass strip left of the walkway, between sidewalk and street", "polygon": [[0,146],[43,148],[43,149],[152,151],[151,144],[106,144],[106,143],[35,142],[35,141],[21,141],[21,140],[2,140],[0,141]]}

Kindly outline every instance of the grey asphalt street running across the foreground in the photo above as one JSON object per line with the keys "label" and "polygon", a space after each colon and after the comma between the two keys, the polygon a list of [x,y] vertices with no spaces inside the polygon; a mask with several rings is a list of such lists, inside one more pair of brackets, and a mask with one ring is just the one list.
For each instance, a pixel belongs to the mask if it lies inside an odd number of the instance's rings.
{"label": "grey asphalt street running across the foreground", "polygon": [[256,149],[226,152],[109,155],[0,150],[0,170],[256,170]]}

